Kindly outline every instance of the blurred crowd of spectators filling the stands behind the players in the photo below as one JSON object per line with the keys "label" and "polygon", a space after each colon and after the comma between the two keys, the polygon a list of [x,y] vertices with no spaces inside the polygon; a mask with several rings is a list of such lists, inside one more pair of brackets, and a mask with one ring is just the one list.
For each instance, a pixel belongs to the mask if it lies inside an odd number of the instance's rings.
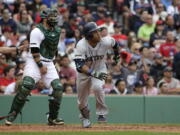
{"label": "blurred crowd of spectators filling the stands behind the players", "polygon": [[[180,93],[180,0],[4,0],[0,2],[0,47],[29,44],[40,12],[58,10],[61,36],[54,62],[65,94],[76,93],[74,47],[83,27],[95,21],[102,37],[118,41],[120,62],[107,54],[106,94]],[[21,85],[28,47],[20,54],[0,54],[0,93]],[[48,94],[42,81],[32,94]]]}

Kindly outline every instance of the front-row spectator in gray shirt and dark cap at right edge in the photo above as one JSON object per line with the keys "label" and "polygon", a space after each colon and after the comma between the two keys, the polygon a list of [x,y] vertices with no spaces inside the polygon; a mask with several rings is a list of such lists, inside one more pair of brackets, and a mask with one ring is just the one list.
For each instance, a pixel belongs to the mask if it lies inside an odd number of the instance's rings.
{"label": "front-row spectator in gray shirt and dark cap at right edge", "polygon": [[173,71],[171,67],[164,69],[163,78],[158,82],[157,87],[159,88],[160,83],[165,82],[167,84],[166,94],[177,94],[180,92],[179,80],[173,77]]}

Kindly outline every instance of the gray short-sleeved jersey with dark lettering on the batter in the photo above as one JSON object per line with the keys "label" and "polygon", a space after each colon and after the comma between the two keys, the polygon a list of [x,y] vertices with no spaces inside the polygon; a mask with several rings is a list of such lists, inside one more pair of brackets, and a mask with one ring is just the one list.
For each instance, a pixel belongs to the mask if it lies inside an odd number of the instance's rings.
{"label": "gray short-sleeved jersey with dark lettering on the batter", "polygon": [[102,38],[96,47],[93,48],[87,40],[83,38],[76,45],[75,59],[84,59],[89,68],[95,71],[106,72],[106,53],[114,44],[115,40],[107,36]]}

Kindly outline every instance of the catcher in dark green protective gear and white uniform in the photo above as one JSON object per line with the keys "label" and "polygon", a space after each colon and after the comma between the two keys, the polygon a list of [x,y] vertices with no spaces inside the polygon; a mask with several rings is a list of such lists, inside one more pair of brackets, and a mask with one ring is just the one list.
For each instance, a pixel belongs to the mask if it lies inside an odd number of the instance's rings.
{"label": "catcher in dark green protective gear and white uniform", "polygon": [[41,12],[41,18],[42,23],[37,25],[30,34],[30,53],[26,61],[24,77],[9,112],[9,114],[14,113],[15,115],[5,120],[6,125],[11,125],[15,120],[22,110],[27,96],[35,88],[35,83],[41,78],[46,87],[52,89],[51,98],[49,99],[48,124],[64,124],[62,119],[58,119],[63,88],[53,64],[60,37],[60,29],[56,27],[57,11],[47,8]]}

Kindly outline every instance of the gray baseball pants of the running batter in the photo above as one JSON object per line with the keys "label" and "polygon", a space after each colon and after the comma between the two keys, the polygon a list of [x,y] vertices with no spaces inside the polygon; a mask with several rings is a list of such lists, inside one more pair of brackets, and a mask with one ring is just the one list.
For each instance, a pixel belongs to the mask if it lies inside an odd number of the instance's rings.
{"label": "gray baseball pants of the running batter", "polygon": [[96,98],[96,114],[106,115],[108,113],[108,109],[105,104],[105,94],[102,87],[104,81],[78,74],[76,83],[79,109],[81,110],[88,106],[88,96],[90,95],[91,90],[93,90]]}

